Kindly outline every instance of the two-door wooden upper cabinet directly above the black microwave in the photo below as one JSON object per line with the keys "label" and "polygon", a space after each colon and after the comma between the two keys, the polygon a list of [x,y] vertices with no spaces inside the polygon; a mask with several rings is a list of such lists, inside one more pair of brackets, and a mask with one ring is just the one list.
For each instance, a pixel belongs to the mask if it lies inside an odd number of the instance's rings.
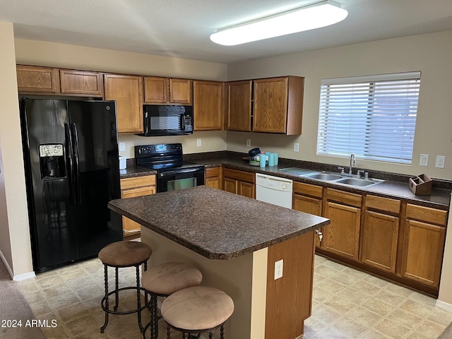
{"label": "two-door wooden upper cabinet directly above the black microwave", "polygon": [[144,77],[145,104],[192,105],[193,81],[189,79]]}

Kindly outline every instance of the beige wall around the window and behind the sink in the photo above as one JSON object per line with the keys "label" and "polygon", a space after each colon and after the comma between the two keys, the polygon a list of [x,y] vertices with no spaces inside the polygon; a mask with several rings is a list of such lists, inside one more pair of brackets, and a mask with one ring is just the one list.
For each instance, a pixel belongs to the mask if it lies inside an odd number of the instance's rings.
{"label": "beige wall around the window and behind the sink", "polygon": [[[278,151],[281,157],[348,166],[345,158],[316,155],[319,93],[322,78],[422,71],[412,165],[357,160],[357,167],[404,174],[428,174],[452,179],[452,114],[449,103],[452,78],[452,31],[381,40],[283,57],[232,64],[228,80],[295,75],[305,77],[301,136],[229,132],[227,149],[246,151],[251,145]],[[293,143],[299,143],[299,153]],[[429,154],[428,167],[419,166],[421,153]],[[446,155],[446,168],[436,169],[436,155]]]}

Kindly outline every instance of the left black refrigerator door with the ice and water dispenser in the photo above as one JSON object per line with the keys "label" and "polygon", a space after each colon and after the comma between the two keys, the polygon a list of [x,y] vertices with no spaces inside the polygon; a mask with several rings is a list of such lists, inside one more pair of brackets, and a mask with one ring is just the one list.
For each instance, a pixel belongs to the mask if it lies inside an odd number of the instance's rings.
{"label": "left black refrigerator door with the ice and water dispenser", "polygon": [[79,257],[66,101],[23,99],[20,118],[33,266],[41,271]]}

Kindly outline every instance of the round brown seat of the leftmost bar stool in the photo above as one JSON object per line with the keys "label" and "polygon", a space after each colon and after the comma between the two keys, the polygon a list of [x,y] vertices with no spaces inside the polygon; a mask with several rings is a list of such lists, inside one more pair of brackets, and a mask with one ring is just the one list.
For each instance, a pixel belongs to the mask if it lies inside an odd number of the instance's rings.
{"label": "round brown seat of the leftmost bar stool", "polygon": [[132,266],[148,260],[153,249],[143,242],[113,242],[99,252],[102,263],[109,266]]}

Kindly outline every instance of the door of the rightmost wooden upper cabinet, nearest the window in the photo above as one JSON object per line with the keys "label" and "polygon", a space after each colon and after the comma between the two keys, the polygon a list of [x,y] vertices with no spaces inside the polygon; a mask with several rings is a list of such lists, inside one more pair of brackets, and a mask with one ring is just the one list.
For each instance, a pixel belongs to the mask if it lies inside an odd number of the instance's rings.
{"label": "door of the rightmost wooden upper cabinet, nearest the window", "polygon": [[253,131],[285,133],[287,126],[287,78],[254,81]]}

